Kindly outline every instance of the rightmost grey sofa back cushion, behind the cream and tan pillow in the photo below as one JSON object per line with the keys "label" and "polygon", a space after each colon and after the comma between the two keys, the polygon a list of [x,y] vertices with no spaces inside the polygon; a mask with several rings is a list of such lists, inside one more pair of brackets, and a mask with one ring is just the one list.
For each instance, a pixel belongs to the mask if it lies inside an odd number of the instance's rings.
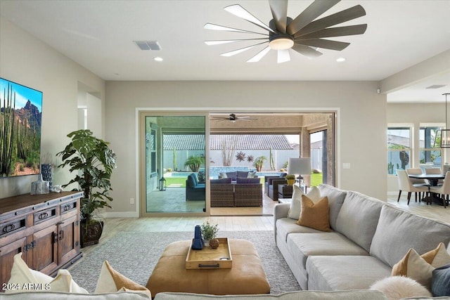
{"label": "rightmost grey sofa back cushion, behind the cream and tan pillow", "polygon": [[439,242],[448,247],[450,224],[385,204],[373,235],[370,253],[392,267],[409,249],[423,254],[435,249]]}

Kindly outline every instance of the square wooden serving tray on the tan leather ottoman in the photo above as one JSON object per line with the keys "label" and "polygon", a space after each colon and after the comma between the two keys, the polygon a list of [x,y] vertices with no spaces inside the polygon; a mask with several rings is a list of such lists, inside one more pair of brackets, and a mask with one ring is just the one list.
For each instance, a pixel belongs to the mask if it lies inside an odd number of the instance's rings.
{"label": "square wooden serving tray on the tan leather ottoman", "polygon": [[186,269],[229,269],[233,265],[228,237],[217,237],[219,247],[203,247],[202,250],[194,250],[189,247],[186,256]]}

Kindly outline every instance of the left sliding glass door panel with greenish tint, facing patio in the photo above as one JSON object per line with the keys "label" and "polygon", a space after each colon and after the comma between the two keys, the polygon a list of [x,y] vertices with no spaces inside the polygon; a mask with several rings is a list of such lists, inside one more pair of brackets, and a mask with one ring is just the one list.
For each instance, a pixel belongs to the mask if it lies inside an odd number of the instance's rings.
{"label": "left sliding glass door panel with greenish tint, facing patio", "polygon": [[203,213],[205,116],[148,113],[141,124],[141,215]]}

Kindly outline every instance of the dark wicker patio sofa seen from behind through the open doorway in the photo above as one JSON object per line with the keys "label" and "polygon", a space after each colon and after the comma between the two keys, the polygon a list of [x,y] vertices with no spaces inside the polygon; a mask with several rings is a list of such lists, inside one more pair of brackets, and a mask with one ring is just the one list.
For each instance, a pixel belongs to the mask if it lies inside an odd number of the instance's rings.
{"label": "dark wicker patio sofa seen from behind through the open doorway", "polygon": [[211,207],[262,207],[259,178],[211,179]]}

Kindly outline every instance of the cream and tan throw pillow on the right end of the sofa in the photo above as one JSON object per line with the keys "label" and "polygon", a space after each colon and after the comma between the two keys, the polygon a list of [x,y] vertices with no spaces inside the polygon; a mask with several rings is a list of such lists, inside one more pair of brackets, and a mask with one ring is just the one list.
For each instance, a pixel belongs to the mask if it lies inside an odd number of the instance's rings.
{"label": "cream and tan throw pillow on the right end of the sofa", "polygon": [[447,263],[450,263],[450,254],[446,252],[444,243],[422,255],[411,248],[403,259],[392,267],[392,276],[409,277],[430,290],[432,271]]}

